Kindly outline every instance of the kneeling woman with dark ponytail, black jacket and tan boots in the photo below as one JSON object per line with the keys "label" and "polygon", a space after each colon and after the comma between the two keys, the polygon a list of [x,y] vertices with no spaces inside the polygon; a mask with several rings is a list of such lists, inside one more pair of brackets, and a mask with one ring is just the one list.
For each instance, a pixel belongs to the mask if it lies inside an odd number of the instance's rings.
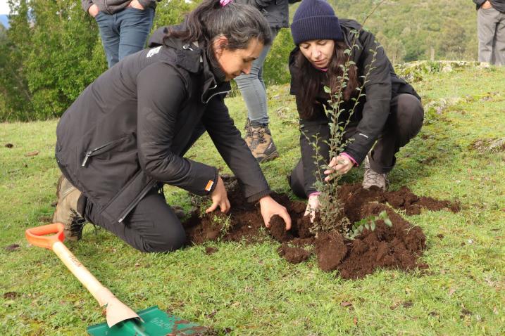
{"label": "kneeling woman with dark ponytail, black jacket and tan boots", "polygon": [[77,240],[87,220],[143,252],[175,250],[185,232],[159,190],[163,183],[230,209],[218,169],[183,157],[207,131],[258,201],[266,224],[274,214],[291,221],[270,198],[258,163],[233,124],[224,98],[230,79],[249,72],[271,41],[256,9],[229,0],[206,0],[185,24],[156,34],[156,47],[127,56],[77,98],[56,129],[56,160],[63,173],[53,221]]}

